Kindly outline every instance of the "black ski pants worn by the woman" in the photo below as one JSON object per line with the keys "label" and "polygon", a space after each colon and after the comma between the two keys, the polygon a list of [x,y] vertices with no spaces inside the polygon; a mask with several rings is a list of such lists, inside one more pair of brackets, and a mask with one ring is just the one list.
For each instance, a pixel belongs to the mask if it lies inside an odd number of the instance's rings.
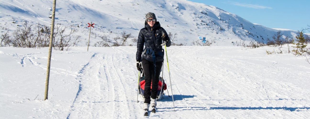
{"label": "black ski pants worn by the woman", "polygon": [[[159,75],[162,69],[162,61],[156,62],[156,75],[154,75],[154,64],[151,61],[142,60],[142,68],[144,71],[145,85],[144,85],[144,103],[150,104],[151,99],[157,98],[157,88],[159,82]],[[151,94],[152,83],[152,94]]]}

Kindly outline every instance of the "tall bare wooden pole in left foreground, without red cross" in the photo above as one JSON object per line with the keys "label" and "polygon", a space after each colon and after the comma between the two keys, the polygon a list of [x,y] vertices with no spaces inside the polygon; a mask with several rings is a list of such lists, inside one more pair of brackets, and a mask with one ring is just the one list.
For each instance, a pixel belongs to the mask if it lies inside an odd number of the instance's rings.
{"label": "tall bare wooden pole in left foreground, without red cross", "polygon": [[53,37],[54,37],[55,9],[56,9],[56,0],[54,0],[54,2],[53,2],[51,37],[50,37],[50,47],[49,47],[48,58],[47,58],[47,71],[46,71],[44,100],[47,100],[47,97],[48,97],[48,83],[49,83],[49,79],[50,79],[51,56],[52,56]]}

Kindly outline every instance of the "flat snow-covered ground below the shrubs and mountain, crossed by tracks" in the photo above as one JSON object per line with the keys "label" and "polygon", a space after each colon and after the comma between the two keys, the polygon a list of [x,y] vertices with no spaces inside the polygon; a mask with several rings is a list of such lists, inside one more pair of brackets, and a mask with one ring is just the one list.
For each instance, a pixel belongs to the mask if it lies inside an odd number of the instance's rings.
{"label": "flat snow-covered ground below the shrubs and mountain, crossed by tracks", "polygon": [[[283,46],[285,52],[287,46]],[[310,68],[305,57],[277,47],[167,47],[171,84],[150,118],[308,118]],[[135,46],[0,47],[2,118],[145,118],[137,103]],[[166,60],[164,76],[171,96]]]}

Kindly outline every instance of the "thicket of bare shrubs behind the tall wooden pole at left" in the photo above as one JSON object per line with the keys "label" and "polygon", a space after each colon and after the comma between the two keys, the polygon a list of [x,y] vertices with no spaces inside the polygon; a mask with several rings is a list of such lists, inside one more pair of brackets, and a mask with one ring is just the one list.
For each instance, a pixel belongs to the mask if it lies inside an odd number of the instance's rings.
{"label": "thicket of bare shrubs behind the tall wooden pole at left", "polygon": [[[81,36],[73,36],[73,33],[77,33],[77,30],[70,28],[71,31],[66,33],[65,31],[67,29],[67,26],[56,25],[56,32],[53,36],[54,49],[69,50],[70,46],[76,46],[77,43],[80,42],[79,39]],[[17,27],[13,32],[13,38],[7,33],[2,34],[0,45],[29,48],[48,47],[50,43],[50,33],[50,26],[41,25],[40,23],[34,26],[33,24],[29,24],[28,21],[24,21],[24,24],[21,27]]]}

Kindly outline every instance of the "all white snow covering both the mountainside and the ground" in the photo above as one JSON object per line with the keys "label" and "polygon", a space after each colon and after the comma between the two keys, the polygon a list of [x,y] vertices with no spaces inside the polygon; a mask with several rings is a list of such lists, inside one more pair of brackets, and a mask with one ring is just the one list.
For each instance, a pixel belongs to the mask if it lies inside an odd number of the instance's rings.
{"label": "all white snow covering both the mountainside and the ground", "polygon": [[[0,0],[0,32],[12,34],[24,20],[49,25],[51,7],[51,0]],[[92,46],[100,36],[113,41],[123,31],[137,37],[148,12],[168,33],[178,33],[176,43],[188,45],[167,47],[175,107],[165,91],[150,118],[310,117],[306,57],[287,53],[287,46],[283,54],[267,55],[279,48],[232,44],[266,42],[278,31],[294,38],[296,31],[267,28],[186,0],[65,0],[57,1],[55,10],[55,24],[78,29],[82,42],[70,51],[53,50],[48,100],[43,100],[48,48],[0,47],[1,118],[147,118],[143,99],[136,99],[136,47]],[[87,52],[91,22],[95,28]],[[199,36],[215,43],[190,46]],[[167,67],[164,62],[171,95]]]}

